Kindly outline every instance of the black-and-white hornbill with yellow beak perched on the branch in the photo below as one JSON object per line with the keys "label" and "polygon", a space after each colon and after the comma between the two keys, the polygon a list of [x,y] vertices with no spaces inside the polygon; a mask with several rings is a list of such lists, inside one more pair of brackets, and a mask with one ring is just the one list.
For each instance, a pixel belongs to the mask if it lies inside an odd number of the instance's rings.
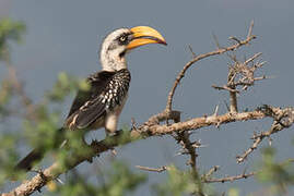
{"label": "black-and-white hornbill with yellow beak perched on the branch", "polygon": [[[106,36],[99,52],[102,71],[87,77],[90,89],[78,91],[60,130],[91,131],[105,127],[106,134],[116,132],[131,79],[126,54],[146,44],[166,45],[166,41],[149,26],[119,28]],[[16,164],[16,169],[31,170],[33,162],[42,159],[43,154],[39,149],[32,150]]]}

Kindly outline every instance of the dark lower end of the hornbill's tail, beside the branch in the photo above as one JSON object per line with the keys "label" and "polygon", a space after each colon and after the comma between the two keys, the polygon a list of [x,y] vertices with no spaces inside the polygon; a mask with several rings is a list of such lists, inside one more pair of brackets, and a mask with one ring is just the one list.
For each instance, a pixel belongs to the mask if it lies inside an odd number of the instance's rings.
{"label": "dark lower end of the hornbill's tail, beside the branch", "polygon": [[15,166],[15,169],[30,171],[33,167],[33,163],[40,160],[42,158],[43,152],[34,149]]}

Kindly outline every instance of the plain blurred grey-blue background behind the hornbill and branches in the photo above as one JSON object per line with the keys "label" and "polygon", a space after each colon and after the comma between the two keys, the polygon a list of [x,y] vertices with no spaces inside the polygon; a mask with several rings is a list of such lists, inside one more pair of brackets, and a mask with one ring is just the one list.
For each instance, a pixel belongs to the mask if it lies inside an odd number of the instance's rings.
{"label": "plain blurred grey-blue background behind the hornbill and branches", "polygon": [[[128,56],[132,74],[130,94],[120,118],[120,127],[130,126],[131,118],[138,124],[166,105],[167,94],[177,73],[191,59],[188,46],[196,54],[214,50],[213,34],[221,46],[227,46],[230,36],[244,38],[250,21],[255,21],[254,35],[257,39],[237,53],[239,59],[262,52],[267,64],[260,75],[271,76],[243,93],[239,110],[254,109],[260,105],[294,106],[293,46],[294,1],[292,0],[186,0],[186,1],[16,1],[0,0],[0,17],[9,16],[26,25],[21,46],[12,47],[12,64],[19,77],[25,82],[25,90],[35,102],[43,99],[59,72],[67,72],[81,78],[101,70],[97,52],[104,37],[115,28],[137,25],[152,26],[166,38],[167,47],[149,45]],[[226,112],[225,91],[217,91],[211,85],[226,83],[227,56],[213,57],[195,64],[176,90],[174,109],[183,112],[183,120],[211,114],[220,105],[220,113]],[[2,73],[1,73],[2,72]],[[0,66],[0,77],[4,74]],[[72,98],[60,109],[66,118]],[[249,156],[245,163],[236,163],[250,145],[254,132],[267,131],[271,121],[238,122],[195,131],[193,139],[201,139],[207,147],[200,148],[198,162],[200,171],[221,166],[219,176],[250,171],[260,160],[260,150]],[[278,159],[293,156],[293,127],[272,136]],[[104,133],[91,133],[91,138],[102,138]],[[268,146],[267,140],[261,146]],[[19,147],[24,156],[30,146]],[[177,156],[180,146],[170,136],[152,137],[117,149],[118,159],[134,166],[158,168],[174,162],[185,168],[185,156]],[[109,152],[107,152],[109,154]],[[96,163],[107,166],[108,160],[96,158]],[[81,172],[89,172],[93,164],[82,163]],[[94,168],[92,168],[94,169]],[[166,177],[164,173],[148,173],[146,185],[140,186],[134,195],[152,195],[150,186]],[[8,185],[5,188],[10,189]],[[214,185],[217,193],[238,187],[240,195],[262,189],[255,179]],[[290,195],[294,192],[289,193]],[[38,195],[38,194],[35,194]]]}

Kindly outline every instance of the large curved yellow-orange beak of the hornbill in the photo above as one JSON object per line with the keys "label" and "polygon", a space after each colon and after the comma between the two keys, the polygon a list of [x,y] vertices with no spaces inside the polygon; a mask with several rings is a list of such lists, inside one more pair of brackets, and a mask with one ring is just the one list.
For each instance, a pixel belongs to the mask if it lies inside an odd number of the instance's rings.
{"label": "large curved yellow-orange beak of the hornbill", "polygon": [[163,36],[149,26],[136,26],[131,28],[133,39],[127,46],[128,50],[148,44],[162,44],[167,45]]}

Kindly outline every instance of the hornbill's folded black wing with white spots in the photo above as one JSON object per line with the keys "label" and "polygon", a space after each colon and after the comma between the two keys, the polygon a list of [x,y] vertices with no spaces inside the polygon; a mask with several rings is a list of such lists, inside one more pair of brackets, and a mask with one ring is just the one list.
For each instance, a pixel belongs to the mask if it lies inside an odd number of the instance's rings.
{"label": "hornbill's folded black wing with white spots", "polygon": [[126,96],[130,82],[128,70],[98,72],[87,78],[90,90],[80,90],[70,109],[67,126],[87,128],[93,122],[114,109]]}

